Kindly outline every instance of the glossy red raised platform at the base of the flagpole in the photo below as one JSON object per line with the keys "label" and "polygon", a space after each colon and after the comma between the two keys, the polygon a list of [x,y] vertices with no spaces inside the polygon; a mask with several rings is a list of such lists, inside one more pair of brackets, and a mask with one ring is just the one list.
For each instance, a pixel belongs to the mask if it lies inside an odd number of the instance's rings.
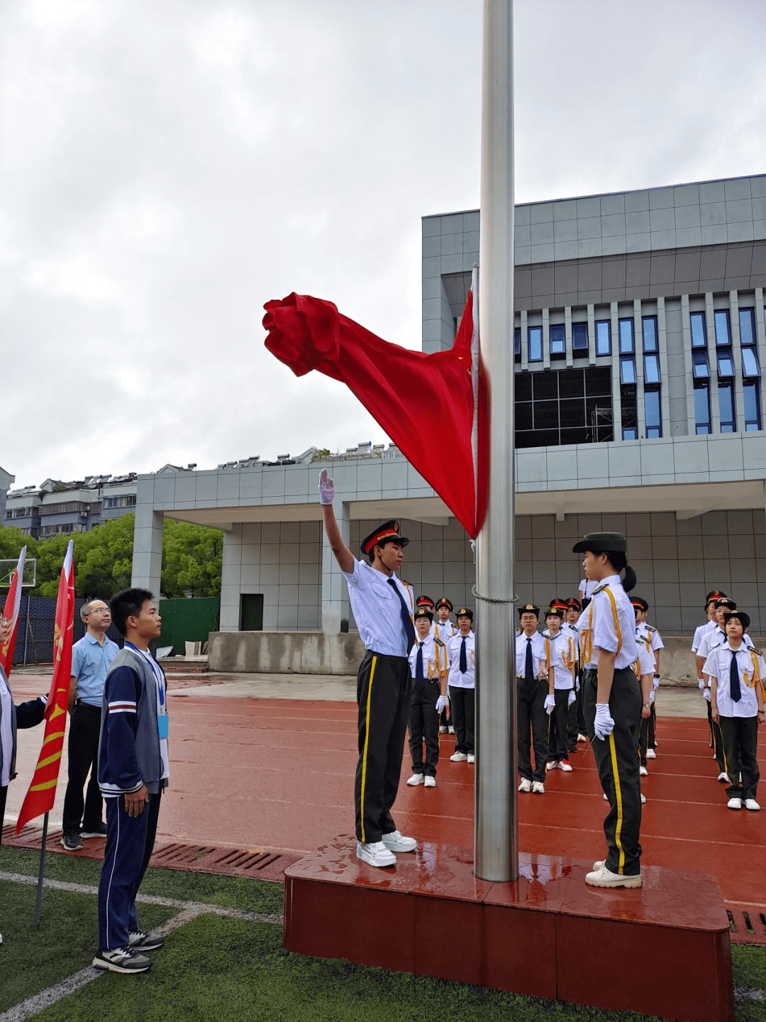
{"label": "glossy red raised platform at the base of the flagpole", "polygon": [[523,854],[512,883],[472,869],[471,852],[426,841],[377,870],[337,838],[285,870],[285,947],[597,1008],[733,1019],[714,877],[650,866],[640,889],[605,890],[572,858]]}

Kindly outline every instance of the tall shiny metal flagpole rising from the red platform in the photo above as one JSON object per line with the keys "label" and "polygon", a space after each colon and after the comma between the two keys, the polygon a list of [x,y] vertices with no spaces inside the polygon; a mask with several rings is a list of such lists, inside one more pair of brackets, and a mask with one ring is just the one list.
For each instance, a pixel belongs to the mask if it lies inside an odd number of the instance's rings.
{"label": "tall shiny metal flagpole rising from the red platform", "polygon": [[489,386],[489,491],[476,549],[474,872],[518,877],[514,645],[513,0],[484,0],[479,333]]}

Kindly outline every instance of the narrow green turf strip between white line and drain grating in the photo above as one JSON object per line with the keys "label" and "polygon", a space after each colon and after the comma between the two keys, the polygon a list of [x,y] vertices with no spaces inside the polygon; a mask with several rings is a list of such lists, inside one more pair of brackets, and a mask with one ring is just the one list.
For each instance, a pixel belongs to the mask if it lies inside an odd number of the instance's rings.
{"label": "narrow green turf strip between white line and drain grating", "polygon": [[[39,865],[39,851],[0,846],[0,870],[37,876]],[[51,880],[97,886],[100,873],[100,860],[59,855],[55,852],[46,855],[45,875]],[[148,869],[141,884],[141,893],[277,915],[281,915],[284,900],[282,884],[181,870]]]}

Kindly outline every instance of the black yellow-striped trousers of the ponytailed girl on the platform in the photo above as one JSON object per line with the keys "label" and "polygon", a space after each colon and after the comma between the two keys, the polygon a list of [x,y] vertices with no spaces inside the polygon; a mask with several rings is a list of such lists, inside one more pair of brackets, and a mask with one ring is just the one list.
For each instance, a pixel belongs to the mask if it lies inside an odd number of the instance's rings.
{"label": "black yellow-striped trousers of the ponytailed girl on the platform", "polygon": [[614,731],[606,739],[595,737],[597,676],[588,670],[583,680],[583,706],[588,737],[599,768],[599,778],[609,799],[604,821],[607,838],[606,866],[612,873],[631,877],[640,873],[641,789],[638,775],[638,728],[641,719],[641,689],[629,667],[615,670],[609,712]]}

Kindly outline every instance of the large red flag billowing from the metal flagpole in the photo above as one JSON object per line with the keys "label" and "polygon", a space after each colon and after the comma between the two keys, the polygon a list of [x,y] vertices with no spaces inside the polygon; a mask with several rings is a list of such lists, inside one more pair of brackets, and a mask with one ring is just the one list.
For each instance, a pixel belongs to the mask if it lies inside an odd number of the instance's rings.
{"label": "large red flag billowing from the metal flagpole", "polygon": [[[432,355],[382,340],[307,294],[268,301],[264,326],[266,346],[296,376],[318,369],[345,383],[475,538],[486,507],[488,431],[473,290],[452,347]],[[448,435],[448,458],[424,443],[438,429]]]}

